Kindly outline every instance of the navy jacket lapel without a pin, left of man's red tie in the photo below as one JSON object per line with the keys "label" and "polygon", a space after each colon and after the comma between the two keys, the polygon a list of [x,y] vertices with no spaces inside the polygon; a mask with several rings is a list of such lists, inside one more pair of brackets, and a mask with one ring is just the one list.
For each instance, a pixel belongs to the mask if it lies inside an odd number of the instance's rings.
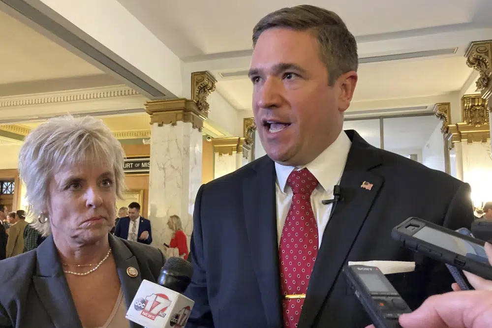
{"label": "navy jacket lapel without a pin, left of man's red tie", "polygon": [[243,206],[253,269],[268,327],[282,326],[274,162],[264,156],[243,185]]}

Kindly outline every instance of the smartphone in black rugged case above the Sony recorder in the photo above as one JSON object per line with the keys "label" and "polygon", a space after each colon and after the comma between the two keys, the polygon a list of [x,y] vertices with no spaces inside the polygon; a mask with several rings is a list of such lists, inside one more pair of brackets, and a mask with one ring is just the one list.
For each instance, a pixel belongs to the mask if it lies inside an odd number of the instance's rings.
{"label": "smartphone in black rugged case above the Sony recorder", "polygon": [[434,260],[492,279],[485,241],[462,235],[426,220],[410,217],[393,228],[393,239]]}

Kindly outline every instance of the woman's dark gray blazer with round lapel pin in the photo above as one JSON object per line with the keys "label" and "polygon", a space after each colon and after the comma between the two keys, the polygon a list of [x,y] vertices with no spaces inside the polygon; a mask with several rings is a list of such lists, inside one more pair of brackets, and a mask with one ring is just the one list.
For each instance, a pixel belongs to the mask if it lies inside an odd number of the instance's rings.
{"label": "woman's dark gray blazer with round lapel pin", "polygon": [[[165,257],[152,246],[108,238],[128,308],[143,279],[157,280]],[[137,269],[137,277],[126,273],[129,267]],[[5,327],[82,328],[52,236],[30,252],[0,261],[0,328]]]}

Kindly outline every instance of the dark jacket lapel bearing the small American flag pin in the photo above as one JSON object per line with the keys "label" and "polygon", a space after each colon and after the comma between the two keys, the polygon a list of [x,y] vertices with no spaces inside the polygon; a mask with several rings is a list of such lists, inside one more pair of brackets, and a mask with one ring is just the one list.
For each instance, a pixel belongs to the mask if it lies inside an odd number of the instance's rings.
{"label": "dark jacket lapel bearing the small American flag pin", "polygon": [[[381,165],[379,153],[358,134],[351,139],[352,146],[340,181],[343,200],[336,205],[323,233],[299,328],[312,327],[315,323],[384,182],[382,177],[370,172]],[[362,187],[364,181],[372,184],[370,190]]]}

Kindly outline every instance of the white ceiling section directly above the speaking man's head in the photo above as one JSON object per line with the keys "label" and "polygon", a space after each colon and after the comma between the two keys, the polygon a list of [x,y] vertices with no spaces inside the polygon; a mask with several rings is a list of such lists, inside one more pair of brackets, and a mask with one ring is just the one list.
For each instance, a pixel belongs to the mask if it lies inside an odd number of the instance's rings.
{"label": "white ceiling section directly above the speaking man's head", "polygon": [[338,13],[349,30],[368,36],[487,22],[490,0],[119,0],[181,58],[251,48],[251,30],[281,7],[312,4]]}

